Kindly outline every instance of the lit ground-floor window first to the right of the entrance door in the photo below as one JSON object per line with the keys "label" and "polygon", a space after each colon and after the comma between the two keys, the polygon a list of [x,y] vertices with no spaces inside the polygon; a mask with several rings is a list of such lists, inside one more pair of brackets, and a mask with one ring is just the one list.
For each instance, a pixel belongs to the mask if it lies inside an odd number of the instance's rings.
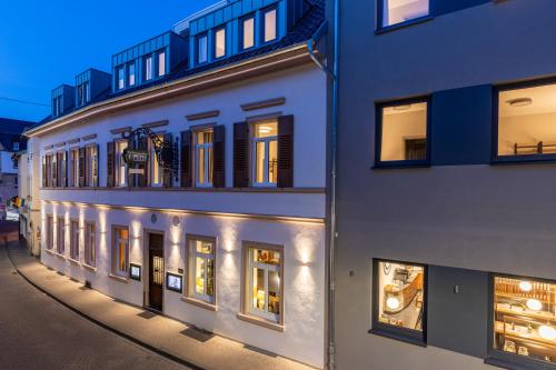
{"label": "lit ground-floor window first to the right of the entrance door", "polygon": [[215,239],[189,240],[189,297],[215,303]]}

